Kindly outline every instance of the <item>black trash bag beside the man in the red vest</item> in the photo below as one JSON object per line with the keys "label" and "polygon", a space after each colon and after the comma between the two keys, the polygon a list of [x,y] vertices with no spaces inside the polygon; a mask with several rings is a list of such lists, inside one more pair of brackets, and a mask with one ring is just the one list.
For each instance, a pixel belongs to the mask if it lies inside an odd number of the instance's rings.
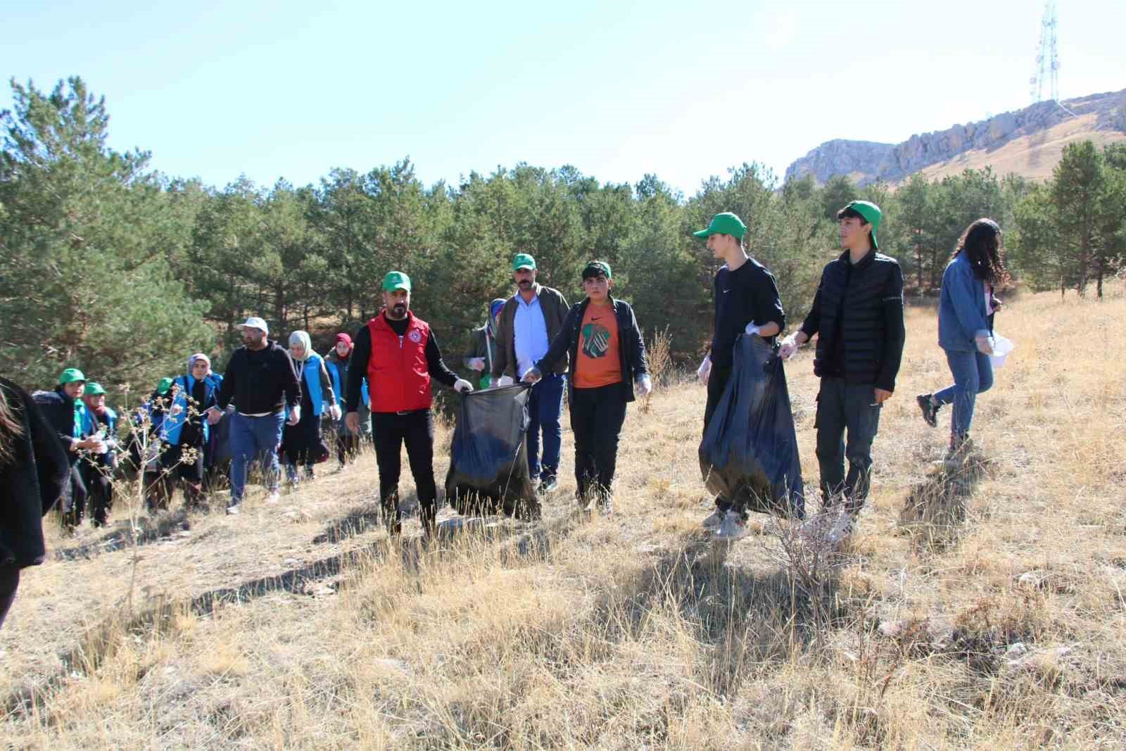
{"label": "black trash bag beside the man in the red vest", "polygon": [[530,386],[515,384],[462,396],[446,474],[446,500],[458,513],[539,518],[525,446],[529,395]]}

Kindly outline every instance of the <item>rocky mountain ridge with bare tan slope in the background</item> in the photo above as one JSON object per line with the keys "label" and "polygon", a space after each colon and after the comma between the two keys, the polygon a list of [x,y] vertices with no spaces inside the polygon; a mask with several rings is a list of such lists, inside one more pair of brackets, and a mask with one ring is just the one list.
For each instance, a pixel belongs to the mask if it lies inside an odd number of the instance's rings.
{"label": "rocky mountain ridge with bare tan slope in the background", "polygon": [[1045,179],[1067,143],[1126,141],[1126,89],[1062,105],[1042,101],[986,120],[913,135],[900,144],[829,141],[792,163],[785,179],[812,175],[824,182],[847,175],[858,185],[877,179],[895,184],[919,171],[942,177],[986,166],[999,175]]}

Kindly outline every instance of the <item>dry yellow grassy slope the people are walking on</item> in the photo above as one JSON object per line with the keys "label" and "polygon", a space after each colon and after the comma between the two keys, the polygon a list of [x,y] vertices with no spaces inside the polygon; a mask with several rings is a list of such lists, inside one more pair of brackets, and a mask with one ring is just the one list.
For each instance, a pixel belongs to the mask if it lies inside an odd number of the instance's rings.
{"label": "dry yellow grassy slope the people are walking on", "polygon": [[[143,519],[135,552],[124,511],[109,530],[52,533],[0,631],[0,737],[1120,749],[1126,295],[1024,296],[998,319],[1018,349],[978,401],[980,464],[947,477],[945,431],[913,396],[948,373],[933,312],[910,312],[873,499],[813,587],[765,517],[730,551],[706,542],[704,392],[686,383],[631,406],[611,517],[577,515],[570,480],[543,522],[446,522],[421,547],[412,521],[388,546],[368,457],[277,506],[250,497],[240,517]],[[787,365],[807,483],[811,370],[808,351]],[[566,470],[571,450],[565,433]]]}

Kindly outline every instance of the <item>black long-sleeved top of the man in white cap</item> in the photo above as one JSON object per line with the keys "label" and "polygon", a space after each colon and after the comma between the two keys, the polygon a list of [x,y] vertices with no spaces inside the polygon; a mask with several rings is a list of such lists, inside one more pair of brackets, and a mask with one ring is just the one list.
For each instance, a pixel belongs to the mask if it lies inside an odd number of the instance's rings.
{"label": "black long-sleeved top of the man in white cap", "polygon": [[215,402],[225,410],[234,400],[234,409],[243,414],[277,412],[284,406],[301,404],[301,381],[294,370],[289,350],[276,341],[267,341],[265,350],[251,354],[245,346],[234,350],[223,373]]}

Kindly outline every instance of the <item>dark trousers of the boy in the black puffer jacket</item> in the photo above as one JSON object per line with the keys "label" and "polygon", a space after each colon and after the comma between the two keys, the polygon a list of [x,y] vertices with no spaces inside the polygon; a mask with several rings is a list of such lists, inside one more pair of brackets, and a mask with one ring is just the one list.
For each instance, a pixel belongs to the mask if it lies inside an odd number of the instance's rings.
{"label": "dark trousers of the boy in the black puffer jacket", "polygon": [[847,511],[855,513],[864,507],[872,482],[872,441],[879,429],[882,409],[875,402],[872,384],[847,384],[843,378],[821,379],[814,427],[817,429],[821,497],[825,506],[832,506],[842,494]]}

